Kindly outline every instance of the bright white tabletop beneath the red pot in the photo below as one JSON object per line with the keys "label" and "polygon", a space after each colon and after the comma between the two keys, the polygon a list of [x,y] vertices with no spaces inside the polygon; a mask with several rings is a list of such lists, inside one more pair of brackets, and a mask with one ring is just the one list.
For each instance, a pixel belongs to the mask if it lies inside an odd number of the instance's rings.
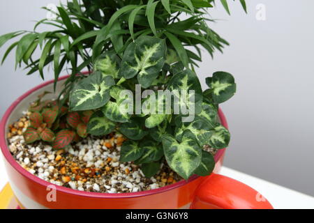
{"label": "bright white tabletop beneath the red pot", "polygon": [[[246,183],[250,187],[253,187],[266,197],[274,208],[314,208],[314,197],[306,194],[301,194],[300,192],[290,190],[274,183],[269,183],[266,180],[255,178],[254,176],[249,176],[227,167],[223,167],[220,174],[229,176],[230,178],[234,178],[235,180],[239,180],[242,183]],[[0,190],[7,182],[8,176],[6,175],[6,170],[1,159]]]}

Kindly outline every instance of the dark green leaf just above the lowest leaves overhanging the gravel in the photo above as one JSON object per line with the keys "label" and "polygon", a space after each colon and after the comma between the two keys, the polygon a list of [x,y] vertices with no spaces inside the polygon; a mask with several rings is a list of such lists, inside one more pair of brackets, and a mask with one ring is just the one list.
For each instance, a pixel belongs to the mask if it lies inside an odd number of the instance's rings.
{"label": "dark green leaf just above the lowest leaves overhanging the gravel", "polygon": [[122,123],[119,132],[132,140],[140,140],[148,133],[142,128],[139,118],[132,118],[127,123]]}

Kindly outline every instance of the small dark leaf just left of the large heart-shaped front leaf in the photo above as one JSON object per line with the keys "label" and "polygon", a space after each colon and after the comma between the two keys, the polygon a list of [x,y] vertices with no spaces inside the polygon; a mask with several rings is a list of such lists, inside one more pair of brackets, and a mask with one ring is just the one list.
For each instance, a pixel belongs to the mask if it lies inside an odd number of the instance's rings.
{"label": "small dark leaf just left of the large heart-shaped front leaf", "polygon": [[135,161],[136,164],[158,161],[163,157],[163,147],[157,145],[154,141],[142,141],[140,143],[140,148],[144,149],[144,152],[143,155]]}

